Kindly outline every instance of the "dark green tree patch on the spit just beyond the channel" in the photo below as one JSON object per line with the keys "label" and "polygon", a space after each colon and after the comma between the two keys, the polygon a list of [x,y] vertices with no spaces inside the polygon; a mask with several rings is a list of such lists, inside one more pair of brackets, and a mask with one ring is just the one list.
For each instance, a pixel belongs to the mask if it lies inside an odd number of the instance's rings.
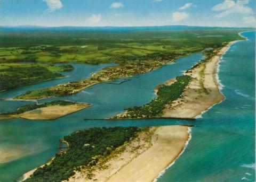
{"label": "dark green tree patch on the spit just beyond the channel", "polygon": [[151,102],[140,107],[127,108],[123,114],[114,116],[111,119],[161,117],[165,105],[180,98],[190,81],[191,77],[188,75],[177,76],[173,84],[160,86],[157,92],[158,97]]}

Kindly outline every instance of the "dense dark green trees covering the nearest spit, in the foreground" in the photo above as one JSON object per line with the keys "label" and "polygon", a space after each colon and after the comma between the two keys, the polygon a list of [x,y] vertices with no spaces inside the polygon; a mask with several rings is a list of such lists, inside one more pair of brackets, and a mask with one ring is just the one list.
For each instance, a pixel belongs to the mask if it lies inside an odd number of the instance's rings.
{"label": "dense dark green trees covering the nearest spit, in the foreground", "polygon": [[84,168],[95,166],[99,158],[108,156],[141,131],[138,127],[90,128],[65,136],[68,149],[55,154],[50,164],[39,167],[26,182],[67,180]]}

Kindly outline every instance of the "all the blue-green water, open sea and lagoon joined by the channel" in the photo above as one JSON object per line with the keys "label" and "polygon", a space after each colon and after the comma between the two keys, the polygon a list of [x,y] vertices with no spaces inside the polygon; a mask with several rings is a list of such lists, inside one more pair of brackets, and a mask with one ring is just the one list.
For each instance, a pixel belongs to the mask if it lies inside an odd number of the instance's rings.
{"label": "all the blue-green water, open sea and lagoon joined by the channel", "polygon": [[[255,103],[255,33],[245,32],[248,41],[239,41],[227,51],[220,64],[219,77],[224,85],[226,100],[207,111],[202,118],[189,120],[154,119],[102,121],[84,118],[106,118],[124,108],[143,105],[155,97],[154,86],[165,82],[193,66],[202,54],[178,59],[175,64],[128,78],[117,85],[103,83],[92,86],[75,96],[44,99],[40,102],[68,99],[93,103],[93,107],[54,121],[11,119],[0,122],[0,150],[19,150],[12,161],[0,164],[0,181],[18,179],[23,173],[49,160],[57,151],[59,139],[78,129],[114,126],[161,126],[194,124],[192,139],[181,157],[167,169],[158,181],[249,181],[255,179],[254,103]],[[74,65],[73,72],[64,79],[24,86],[0,93],[9,98],[31,89],[81,80],[102,68]],[[68,80],[69,79],[69,80]],[[122,80],[122,79],[121,79]],[[12,110],[28,102],[0,100],[0,111]],[[247,174],[246,174],[247,173]],[[250,175],[251,174],[251,175]]]}

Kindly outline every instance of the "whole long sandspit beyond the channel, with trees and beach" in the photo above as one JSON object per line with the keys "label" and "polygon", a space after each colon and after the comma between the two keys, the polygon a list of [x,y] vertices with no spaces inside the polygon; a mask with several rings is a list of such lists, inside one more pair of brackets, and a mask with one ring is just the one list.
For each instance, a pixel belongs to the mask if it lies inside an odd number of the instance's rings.
{"label": "whole long sandspit beyond the channel, with trees and beach", "polygon": [[223,43],[222,48],[205,50],[205,58],[182,76],[157,85],[157,97],[140,107],[126,109],[110,119],[184,118],[195,119],[224,99],[217,80],[219,60],[235,41]]}

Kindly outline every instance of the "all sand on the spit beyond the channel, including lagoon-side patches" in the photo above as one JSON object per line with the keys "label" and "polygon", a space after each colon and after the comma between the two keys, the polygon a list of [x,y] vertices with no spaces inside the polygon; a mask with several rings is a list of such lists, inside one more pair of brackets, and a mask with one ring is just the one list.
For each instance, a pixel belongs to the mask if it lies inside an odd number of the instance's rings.
{"label": "all sand on the spit beyond the channel, including lagoon-side patches", "polygon": [[[182,91],[181,96],[172,102],[167,102],[161,115],[153,118],[195,120],[214,105],[225,100],[225,96],[221,93],[223,85],[221,85],[218,77],[219,63],[230,46],[237,41],[239,40],[225,42],[226,44],[223,47],[214,49],[213,55],[210,55],[209,58],[199,61],[196,65],[185,71],[183,76],[190,76],[191,81]],[[172,85],[175,82],[176,80],[172,78],[165,83],[156,85],[154,88],[155,95],[157,96],[158,89],[162,85]],[[106,120],[130,119],[150,118],[136,115],[134,117],[134,115],[129,115],[128,110],[125,110]]]}

